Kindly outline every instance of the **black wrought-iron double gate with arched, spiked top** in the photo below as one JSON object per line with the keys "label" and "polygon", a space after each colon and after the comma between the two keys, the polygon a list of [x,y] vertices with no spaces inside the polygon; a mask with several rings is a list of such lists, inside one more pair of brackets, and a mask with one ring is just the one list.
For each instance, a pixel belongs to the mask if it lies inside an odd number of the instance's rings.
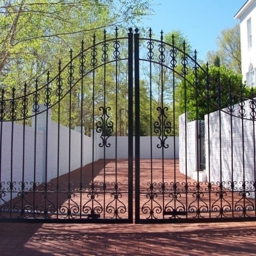
{"label": "black wrought-iron double gate with arched, spiked top", "polygon": [[0,220],[255,220],[253,93],[163,32],[92,40],[1,88]]}

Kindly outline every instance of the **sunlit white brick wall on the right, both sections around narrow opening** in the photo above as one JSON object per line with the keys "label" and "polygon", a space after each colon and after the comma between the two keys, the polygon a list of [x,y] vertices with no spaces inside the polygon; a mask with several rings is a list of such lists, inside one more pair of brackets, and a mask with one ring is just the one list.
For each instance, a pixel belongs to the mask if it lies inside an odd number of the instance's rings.
{"label": "sunlit white brick wall on the right, both sections around narrow opening", "polygon": [[[230,187],[230,181],[236,181],[235,188],[241,189],[243,180],[248,182],[248,189],[255,182],[255,138],[250,120],[250,100],[244,102],[244,119],[239,118],[239,105],[234,106],[232,118],[228,109],[205,115],[205,172],[208,182],[223,182]],[[247,119],[247,120],[246,120]],[[199,156],[196,154],[196,124],[188,122],[186,115],[179,118],[179,165],[180,172],[193,177],[193,171],[198,170]],[[232,124],[232,125],[231,125]],[[199,132],[199,127],[198,127]],[[256,132],[256,127],[255,127]],[[187,136],[186,136],[187,134]],[[233,148],[233,149],[232,149]],[[186,152],[186,154],[185,154]],[[186,163],[187,161],[187,163]],[[254,197],[254,195],[250,195]]]}

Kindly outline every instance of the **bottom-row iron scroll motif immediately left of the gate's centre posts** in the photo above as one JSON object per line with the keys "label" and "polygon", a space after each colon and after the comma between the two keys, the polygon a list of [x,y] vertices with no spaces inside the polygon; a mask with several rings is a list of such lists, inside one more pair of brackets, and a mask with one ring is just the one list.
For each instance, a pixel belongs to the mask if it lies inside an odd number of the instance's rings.
{"label": "bottom-row iron scroll motif immediately left of the gate's centre posts", "polygon": [[111,219],[121,219],[120,214],[124,214],[127,211],[125,204],[120,200],[120,198],[122,198],[122,193],[120,193],[121,189],[119,188],[121,183],[112,182],[111,184],[114,186],[112,189],[113,193],[110,195],[113,199],[106,206],[106,212],[111,214]]}

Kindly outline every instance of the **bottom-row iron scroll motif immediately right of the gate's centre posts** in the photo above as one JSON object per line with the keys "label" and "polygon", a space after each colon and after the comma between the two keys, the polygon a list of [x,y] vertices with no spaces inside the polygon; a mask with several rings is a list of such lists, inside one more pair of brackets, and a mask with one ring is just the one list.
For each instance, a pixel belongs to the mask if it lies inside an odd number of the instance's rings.
{"label": "bottom-row iron scroll motif immediately right of the gate's centre posts", "polygon": [[148,199],[145,204],[141,207],[141,212],[147,214],[147,219],[157,219],[155,214],[160,214],[163,209],[161,205],[157,202],[157,192],[156,192],[156,182],[148,182],[148,193],[146,198]]}

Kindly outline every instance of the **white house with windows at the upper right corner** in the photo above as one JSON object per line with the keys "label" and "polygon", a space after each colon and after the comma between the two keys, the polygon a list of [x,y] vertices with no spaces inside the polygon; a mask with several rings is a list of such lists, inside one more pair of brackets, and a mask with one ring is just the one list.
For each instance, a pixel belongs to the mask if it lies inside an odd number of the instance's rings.
{"label": "white house with windows at the upper right corner", "polygon": [[247,0],[234,16],[240,20],[243,79],[255,86],[256,70],[256,0]]}

